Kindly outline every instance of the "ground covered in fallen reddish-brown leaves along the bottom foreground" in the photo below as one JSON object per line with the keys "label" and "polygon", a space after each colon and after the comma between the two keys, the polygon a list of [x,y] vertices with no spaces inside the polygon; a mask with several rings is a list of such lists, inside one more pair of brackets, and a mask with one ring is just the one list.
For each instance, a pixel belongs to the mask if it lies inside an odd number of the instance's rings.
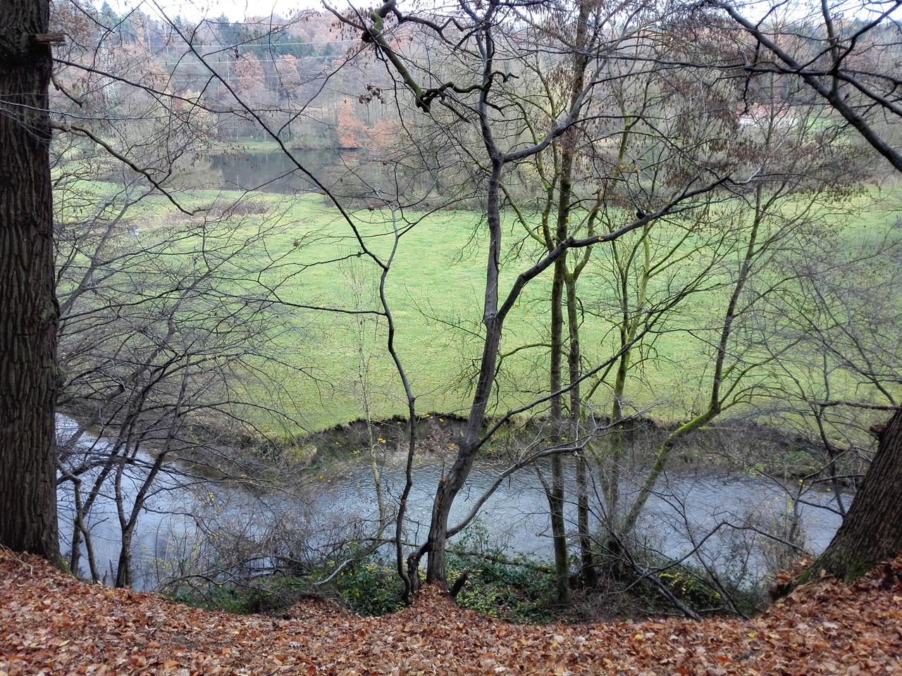
{"label": "ground covered in fallen reddish-brown leaves along the bottom foreground", "polygon": [[518,626],[437,589],[383,617],[316,601],[235,616],[0,552],[0,675],[902,674],[900,571],[815,580],[750,620]]}

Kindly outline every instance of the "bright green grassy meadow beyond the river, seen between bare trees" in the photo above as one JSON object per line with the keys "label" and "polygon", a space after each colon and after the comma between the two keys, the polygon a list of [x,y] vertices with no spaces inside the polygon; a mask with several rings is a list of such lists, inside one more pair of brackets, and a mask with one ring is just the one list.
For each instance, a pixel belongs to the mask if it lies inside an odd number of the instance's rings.
{"label": "bright green grassy meadow beyond the river, seen between bare trees", "polygon": [[[86,194],[108,194],[109,184],[85,183]],[[218,191],[194,191],[181,196],[189,208],[207,206],[215,200],[225,202],[237,194]],[[874,198],[879,196],[879,200]],[[321,196],[296,198],[259,193],[253,196],[257,209],[266,211],[267,219],[277,219],[269,235],[267,250],[272,257],[284,256],[278,271],[268,273],[270,284],[279,284],[287,273],[293,276],[281,285],[281,297],[293,303],[336,307],[375,307],[373,284],[378,270],[372,261],[354,259],[355,271],[347,263],[302,266],[322,260],[334,260],[357,250],[348,225],[337,210],[327,206]],[[861,209],[841,234],[837,245],[867,246],[872,238],[887,233],[888,224],[900,214],[896,196],[890,194],[861,196]],[[253,212],[255,209],[251,209]],[[418,215],[409,215],[416,217]],[[389,215],[380,211],[355,212],[362,233],[373,249],[386,255],[391,246]],[[170,202],[154,196],[133,207],[132,219],[141,226],[142,236],[177,231],[189,224]],[[264,220],[264,215],[245,215],[236,228],[247,233]],[[271,221],[271,223],[274,223]],[[388,297],[397,323],[398,350],[410,376],[421,412],[465,414],[468,389],[465,372],[474,369],[479,343],[474,335],[480,328],[484,284],[483,228],[480,216],[473,212],[446,211],[428,215],[400,241],[397,257],[388,280]],[[669,228],[669,230],[668,230]],[[522,246],[520,259],[512,249],[523,240],[523,229],[511,218],[502,275],[502,295],[520,270],[537,259],[538,245],[529,241]],[[241,233],[241,230],[237,231]],[[661,224],[660,247],[676,237],[676,227]],[[902,235],[896,231],[894,236]],[[295,246],[295,242],[299,246]],[[689,252],[695,240],[683,244]],[[611,276],[606,271],[607,255],[598,249],[580,281],[582,301],[586,309],[603,308],[613,297]],[[662,294],[667,283],[690,276],[703,264],[704,253],[694,253],[682,260],[672,274],[653,284],[652,294]],[[722,261],[713,279],[727,279],[736,256]],[[358,299],[352,287],[356,278],[363,280],[364,291]],[[657,285],[657,286],[656,286]],[[505,326],[502,352],[533,343],[548,342],[549,275],[530,282],[520,303]],[[646,415],[673,420],[701,404],[703,388],[708,382],[707,341],[711,333],[704,330],[716,322],[726,294],[723,288],[699,294],[688,301],[686,309],[676,314],[669,333],[659,334],[653,351],[634,371],[627,389],[628,405]],[[282,361],[295,370],[275,370],[281,391],[254,392],[254,397],[270,397],[275,407],[299,420],[308,430],[323,429],[364,416],[361,383],[358,377],[359,348],[357,320],[354,316],[321,311],[290,309],[297,326],[280,339]],[[687,333],[685,329],[696,329]],[[678,330],[677,330],[678,329]],[[366,324],[363,350],[369,359],[368,378],[373,416],[388,418],[404,415],[406,406],[387,353],[384,350],[384,326]],[[594,364],[612,352],[615,336],[612,324],[602,318],[584,315],[581,331],[582,348],[587,364]],[[548,351],[542,347],[520,350],[504,360],[499,373],[500,387],[493,402],[497,412],[520,405],[547,388]],[[265,367],[264,367],[265,368]],[[762,372],[760,378],[772,378]],[[612,381],[612,375],[609,378]],[[844,388],[852,383],[842,384]],[[601,385],[595,390],[594,405],[601,411],[610,407],[610,389]],[[297,429],[280,429],[272,422],[262,425],[280,434],[293,434]]]}

